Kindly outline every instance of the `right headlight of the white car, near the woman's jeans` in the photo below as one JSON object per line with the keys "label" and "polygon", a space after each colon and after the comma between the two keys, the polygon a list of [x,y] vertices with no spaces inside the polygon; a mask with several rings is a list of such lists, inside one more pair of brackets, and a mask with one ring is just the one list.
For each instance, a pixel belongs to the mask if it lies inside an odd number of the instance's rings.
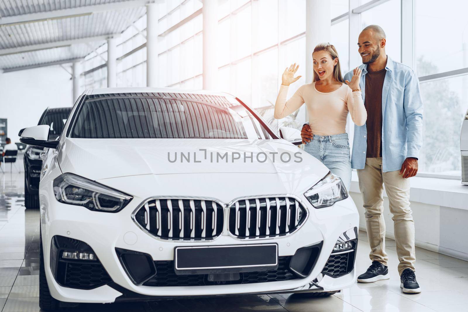
{"label": "right headlight of the white car, near the woman's jeans", "polygon": [[343,181],[332,174],[327,174],[322,180],[304,193],[307,200],[315,208],[325,208],[348,197]]}

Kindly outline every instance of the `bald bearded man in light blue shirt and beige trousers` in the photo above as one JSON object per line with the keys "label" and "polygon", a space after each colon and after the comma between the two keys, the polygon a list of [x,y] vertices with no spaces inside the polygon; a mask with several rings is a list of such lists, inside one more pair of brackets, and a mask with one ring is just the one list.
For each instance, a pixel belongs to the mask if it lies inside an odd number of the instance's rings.
{"label": "bald bearded man in light blue shirt and beige trousers", "polygon": [[[363,65],[360,87],[367,122],[354,126],[351,167],[357,169],[372,265],[358,276],[360,283],[389,279],[385,252],[383,184],[393,214],[398,273],[405,293],[421,292],[415,276],[414,222],[409,207],[409,178],[417,173],[422,144],[423,102],[418,79],[406,65],[386,55],[380,26],[367,26],[358,39]],[[352,72],[344,76],[350,80]],[[303,139],[310,141],[304,125]]]}

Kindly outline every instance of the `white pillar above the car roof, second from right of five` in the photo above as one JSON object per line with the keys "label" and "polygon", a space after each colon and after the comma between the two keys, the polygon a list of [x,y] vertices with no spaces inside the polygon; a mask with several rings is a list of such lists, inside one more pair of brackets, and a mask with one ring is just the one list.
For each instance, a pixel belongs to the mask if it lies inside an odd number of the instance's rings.
{"label": "white pillar above the car roof, second from right of five", "polygon": [[216,61],[217,0],[203,0],[203,88],[217,88],[218,65]]}

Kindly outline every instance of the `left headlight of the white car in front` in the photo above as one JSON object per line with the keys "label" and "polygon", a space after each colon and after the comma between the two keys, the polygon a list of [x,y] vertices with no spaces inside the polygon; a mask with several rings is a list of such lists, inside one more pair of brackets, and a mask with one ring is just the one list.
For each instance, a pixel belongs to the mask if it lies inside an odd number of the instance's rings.
{"label": "left headlight of the white car in front", "polygon": [[60,203],[105,212],[122,210],[133,198],[116,189],[71,173],[61,174],[54,180],[54,194]]}

